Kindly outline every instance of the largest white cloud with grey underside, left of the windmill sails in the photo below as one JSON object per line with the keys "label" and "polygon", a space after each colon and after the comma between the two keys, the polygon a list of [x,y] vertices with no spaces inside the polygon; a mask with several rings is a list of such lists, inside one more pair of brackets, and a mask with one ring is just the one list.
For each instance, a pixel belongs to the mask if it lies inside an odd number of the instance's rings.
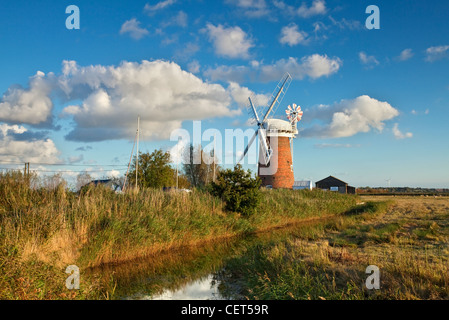
{"label": "largest white cloud with grey underside, left of the windmill sails", "polygon": [[63,115],[76,127],[69,140],[101,141],[132,138],[137,115],[143,139],[166,139],[184,120],[240,114],[230,92],[203,82],[173,62],[123,62],[115,66],[79,67],[65,61],[60,78],[70,100]]}

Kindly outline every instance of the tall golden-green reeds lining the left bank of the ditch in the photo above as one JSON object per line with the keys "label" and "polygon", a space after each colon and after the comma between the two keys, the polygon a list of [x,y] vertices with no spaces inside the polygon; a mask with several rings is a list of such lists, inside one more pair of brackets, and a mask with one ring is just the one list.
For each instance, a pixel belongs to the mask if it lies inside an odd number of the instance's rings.
{"label": "tall golden-green reeds lining the left bank of the ditch", "polygon": [[75,193],[64,186],[37,186],[20,172],[0,175],[0,251],[5,272],[11,271],[7,266],[28,268],[30,263],[57,270],[70,264],[86,268],[118,263],[340,214],[356,205],[354,196],[267,190],[257,212],[244,217],[224,211],[219,198],[201,191],[148,189],[115,194],[98,186]]}

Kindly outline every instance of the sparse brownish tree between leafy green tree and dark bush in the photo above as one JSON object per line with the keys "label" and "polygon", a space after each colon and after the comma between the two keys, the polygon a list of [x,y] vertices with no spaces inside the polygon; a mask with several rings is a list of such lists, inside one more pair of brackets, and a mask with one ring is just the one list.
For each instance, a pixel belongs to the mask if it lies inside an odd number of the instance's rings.
{"label": "sparse brownish tree between leafy green tree and dark bush", "polygon": [[[206,161],[206,158],[210,158],[210,161]],[[203,188],[214,180],[214,172],[216,176],[220,169],[214,159],[213,151],[208,155],[201,146],[190,145],[184,151],[184,174],[192,187]]]}

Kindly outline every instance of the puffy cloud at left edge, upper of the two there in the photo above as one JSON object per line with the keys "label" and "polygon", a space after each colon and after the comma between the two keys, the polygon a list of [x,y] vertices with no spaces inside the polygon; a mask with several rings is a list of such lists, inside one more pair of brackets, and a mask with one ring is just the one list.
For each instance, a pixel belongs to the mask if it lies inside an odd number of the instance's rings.
{"label": "puffy cloud at left edge, upper of the two there", "polygon": [[53,74],[38,71],[30,78],[29,88],[10,87],[0,99],[0,121],[38,125],[49,122],[53,102],[49,98]]}

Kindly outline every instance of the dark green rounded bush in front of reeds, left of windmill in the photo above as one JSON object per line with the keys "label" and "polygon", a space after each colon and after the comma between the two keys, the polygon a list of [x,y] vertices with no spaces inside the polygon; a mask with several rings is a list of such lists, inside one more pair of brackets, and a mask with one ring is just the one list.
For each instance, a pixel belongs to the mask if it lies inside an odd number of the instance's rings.
{"label": "dark green rounded bush in front of reeds, left of windmill", "polygon": [[226,210],[251,215],[260,203],[260,184],[259,177],[252,177],[250,170],[237,165],[234,169],[220,171],[216,181],[211,183],[211,193],[225,202]]}

